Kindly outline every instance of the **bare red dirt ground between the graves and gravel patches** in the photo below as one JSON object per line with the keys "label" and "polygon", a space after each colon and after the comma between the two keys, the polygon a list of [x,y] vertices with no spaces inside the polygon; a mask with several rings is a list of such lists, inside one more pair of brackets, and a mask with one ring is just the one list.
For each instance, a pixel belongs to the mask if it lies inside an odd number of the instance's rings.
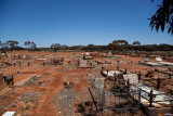
{"label": "bare red dirt ground between the graves and gravel patches", "polygon": [[[37,74],[39,78],[30,80],[27,85],[22,87],[14,87],[9,92],[5,92],[0,96],[0,115],[2,115],[5,111],[15,111],[17,116],[61,116],[64,115],[62,112],[57,112],[56,107],[52,104],[54,95],[61,91],[65,90],[64,82],[74,82],[74,91],[78,93],[82,93],[82,91],[88,91],[88,87],[91,87],[90,77],[91,76],[101,76],[101,67],[102,65],[96,65],[94,68],[77,68],[78,57],[81,56],[81,52],[29,52],[29,51],[15,51],[12,52],[11,55],[14,54],[27,54],[32,55],[37,54],[38,57],[41,55],[45,55],[46,61],[37,61],[37,59],[28,59],[21,60],[22,66],[6,66],[0,68],[3,75],[15,75],[14,82],[22,81],[28,78],[30,75]],[[57,54],[54,55],[53,54]],[[41,63],[49,62],[51,57],[65,57],[64,65],[49,65],[43,66]],[[142,57],[130,57],[125,55],[119,55],[122,59],[105,59],[105,57],[94,57],[95,60],[101,60],[102,62],[110,61],[111,64],[104,64],[103,66],[108,69],[117,69],[117,60],[120,61],[120,68],[128,68],[128,72],[135,73],[142,70],[142,78],[145,78],[147,70],[155,69],[155,67],[138,65],[138,61],[143,61]],[[12,57],[6,57],[2,61],[8,61],[12,63]],[[68,61],[71,61],[68,64]],[[131,61],[132,64],[131,64]],[[27,66],[27,63],[30,63],[30,66]],[[19,72],[19,74],[16,74]],[[30,94],[37,94],[36,100],[34,102],[24,102],[23,94],[27,92],[31,92]],[[74,107],[76,108],[76,104],[81,101],[92,101],[89,93],[79,96],[79,100],[76,100],[74,103]],[[18,99],[19,98],[19,99]],[[24,109],[24,106],[29,105],[29,109]],[[58,106],[57,106],[58,108]],[[77,111],[77,109],[75,109]],[[75,112],[76,115],[81,115]],[[104,112],[104,115],[106,113]],[[108,115],[108,114],[107,114]],[[112,115],[112,114],[111,114]]]}

